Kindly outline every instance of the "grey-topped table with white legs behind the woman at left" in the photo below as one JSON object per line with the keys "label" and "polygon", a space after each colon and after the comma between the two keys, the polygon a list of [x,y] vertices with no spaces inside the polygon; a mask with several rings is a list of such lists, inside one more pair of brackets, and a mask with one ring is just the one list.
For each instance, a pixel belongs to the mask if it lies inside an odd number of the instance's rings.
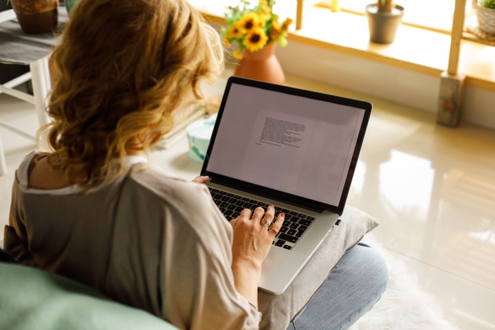
{"label": "grey-topped table with white legs behind the woman at left", "polygon": [[[67,10],[64,6],[60,6],[58,8],[58,31],[67,22],[67,19]],[[52,87],[47,60],[56,43],[58,43],[57,32],[25,34],[17,22],[14,10],[0,12],[0,63],[30,66],[30,72],[0,85],[0,94],[5,93],[34,104],[40,126],[47,124],[50,120],[45,111],[47,94]],[[33,89],[32,96],[14,89],[14,87],[30,79]],[[30,140],[35,140],[34,134],[25,133],[22,129],[7,122],[0,121],[0,127]],[[5,175],[6,170],[5,153],[0,136],[0,175]]]}

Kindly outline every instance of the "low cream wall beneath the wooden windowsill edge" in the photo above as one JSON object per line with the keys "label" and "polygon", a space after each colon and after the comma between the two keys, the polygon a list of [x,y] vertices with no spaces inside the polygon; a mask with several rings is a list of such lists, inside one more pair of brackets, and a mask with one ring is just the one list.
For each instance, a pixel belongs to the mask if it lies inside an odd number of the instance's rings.
{"label": "low cream wall beneath the wooden windowsill edge", "polygon": [[[440,77],[296,42],[276,54],[287,73],[437,112]],[[462,120],[495,129],[495,92],[465,85]]]}

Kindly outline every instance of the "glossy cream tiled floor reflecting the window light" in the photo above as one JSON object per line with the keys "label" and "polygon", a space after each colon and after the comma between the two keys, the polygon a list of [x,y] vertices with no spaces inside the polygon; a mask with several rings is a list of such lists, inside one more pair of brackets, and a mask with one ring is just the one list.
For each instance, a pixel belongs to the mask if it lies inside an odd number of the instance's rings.
{"label": "glossy cream tiled floor reflecting the window light", "polygon": [[[295,77],[287,84],[373,102],[348,203],[381,221],[371,236],[418,278],[446,319],[459,329],[495,329],[495,131],[437,126],[430,113]],[[211,91],[221,92],[223,80],[217,86]],[[5,95],[0,120],[36,129],[32,107]],[[3,226],[14,168],[34,144],[0,134],[8,162],[0,177]],[[182,151],[174,166],[182,176],[200,167]]]}

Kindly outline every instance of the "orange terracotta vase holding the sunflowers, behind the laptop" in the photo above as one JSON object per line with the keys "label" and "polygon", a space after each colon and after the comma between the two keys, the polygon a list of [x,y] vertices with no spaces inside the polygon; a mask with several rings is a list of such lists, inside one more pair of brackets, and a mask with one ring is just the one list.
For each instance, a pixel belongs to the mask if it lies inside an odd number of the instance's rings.
{"label": "orange terracotta vase holding the sunflowers, behind the laptop", "polygon": [[275,56],[275,44],[263,47],[258,52],[243,52],[243,58],[236,67],[234,76],[262,80],[267,83],[282,85],[285,74]]}

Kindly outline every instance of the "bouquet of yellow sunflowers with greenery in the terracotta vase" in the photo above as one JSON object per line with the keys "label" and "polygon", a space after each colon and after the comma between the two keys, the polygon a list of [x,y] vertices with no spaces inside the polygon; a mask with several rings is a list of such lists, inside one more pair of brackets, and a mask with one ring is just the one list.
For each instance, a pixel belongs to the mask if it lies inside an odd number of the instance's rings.
{"label": "bouquet of yellow sunflowers with greenery in the terracotta vase", "polygon": [[225,44],[237,45],[235,58],[241,59],[243,50],[256,52],[271,43],[287,45],[287,29],[292,19],[280,23],[272,11],[274,4],[274,0],[259,0],[258,5],[240,0],[235,7],[229,6],[225,14],[227,27],[222,29],[222,34]]}

